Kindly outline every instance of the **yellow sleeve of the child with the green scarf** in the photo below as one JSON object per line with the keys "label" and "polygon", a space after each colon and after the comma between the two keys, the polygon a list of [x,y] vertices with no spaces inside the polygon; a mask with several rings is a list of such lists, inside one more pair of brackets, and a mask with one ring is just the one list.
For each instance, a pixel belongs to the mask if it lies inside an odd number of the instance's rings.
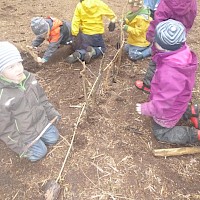
{"label": "yellow sleeve of the child with the green scarf", "polygon": [[147,23],[144,22],[144,20],[137,18],[137,22],[135,24],[135,27],[131,27],[129,25],[124,26],[124,30],[129,33],[131,36],[138,37],[142,33],[144,33],[147,29]]}

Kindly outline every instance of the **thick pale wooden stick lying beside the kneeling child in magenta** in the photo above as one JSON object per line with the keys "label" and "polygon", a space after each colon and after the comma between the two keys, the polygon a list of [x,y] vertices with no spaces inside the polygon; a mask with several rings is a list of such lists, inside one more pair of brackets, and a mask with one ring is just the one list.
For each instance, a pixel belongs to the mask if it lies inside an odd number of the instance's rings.
{"label": "thick pale wooden stick lying beside the kneeling child in magenta", "polygon": [[181,156],[187,154],[200,153],[200,147],[181,147],[181,148],[170,148],[170,149],[154,149],[152,151],[153,155],[158,157],[167,156]]}

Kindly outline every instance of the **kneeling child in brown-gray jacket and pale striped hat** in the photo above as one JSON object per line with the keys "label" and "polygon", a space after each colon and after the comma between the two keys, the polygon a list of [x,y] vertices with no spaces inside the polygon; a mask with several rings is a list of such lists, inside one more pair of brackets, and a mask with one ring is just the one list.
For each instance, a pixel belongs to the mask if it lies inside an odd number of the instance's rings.
{"label": "kneeling child in brown-gray jacket and pale striped hat", "polygon": [[29,149],[27,147],[55,116],[60,114],[48,102],[35,77],[24,71],[17,48],[0,42],[0,139],[30,161],[37,161],[47,153],[46,145],[53,145],[59,133],[51,125]]}

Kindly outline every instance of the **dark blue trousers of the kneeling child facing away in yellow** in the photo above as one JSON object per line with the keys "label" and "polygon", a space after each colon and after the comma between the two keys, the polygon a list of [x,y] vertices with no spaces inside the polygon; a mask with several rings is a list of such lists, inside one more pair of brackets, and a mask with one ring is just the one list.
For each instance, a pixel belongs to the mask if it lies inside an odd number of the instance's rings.
{"label": "dark blue trousers of the kneeling child facing away in yellow", "polygon": [[101,56],[106,50],[103,35],[87,35],[80,32],[76,38],[74,50],[78,51],[81,54],[81,60],[83,60],[84,55],[87,52],[86,49],[88,46],[91,46],[95,49],[96,54],[93,56],[93,58]]}

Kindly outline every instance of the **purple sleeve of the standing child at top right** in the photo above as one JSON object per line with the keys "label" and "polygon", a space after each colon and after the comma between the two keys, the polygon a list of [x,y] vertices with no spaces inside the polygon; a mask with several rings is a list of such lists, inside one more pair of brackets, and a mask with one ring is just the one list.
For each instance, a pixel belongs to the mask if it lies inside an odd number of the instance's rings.
{"label": "purple sleeve of the standing child at top right", "polygon": [[159,24],[159,22],[169,19],[170,13],[171,11],[169,10],[167,6],[165,6],[164,1],[161,1],[160,4],[158,5],[158,9],[155,12],[154,20],[150,22],[150,25],[146,34],[146,39],[150,43],[152,43],[154,40],[156,26]]}

